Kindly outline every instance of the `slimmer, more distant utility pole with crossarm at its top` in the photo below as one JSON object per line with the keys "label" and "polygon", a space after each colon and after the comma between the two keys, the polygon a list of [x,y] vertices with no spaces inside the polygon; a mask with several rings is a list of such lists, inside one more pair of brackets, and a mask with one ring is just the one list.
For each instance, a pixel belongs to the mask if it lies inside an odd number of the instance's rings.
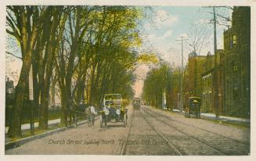
{"label": "slimmer, more distant utility pole with crossarm at its top", "polygon": [[181,113],[182,113],[182,110],[183,110],[183,41],[186,41],[188,39],[184,39],[184,36],[181,36],[180,38],[181,39],[178,39],[176,41],[182,41],[182,68],[181,68],[180,89],[179,89],[179,98],[180,98],[179,108],[181,109]]}

